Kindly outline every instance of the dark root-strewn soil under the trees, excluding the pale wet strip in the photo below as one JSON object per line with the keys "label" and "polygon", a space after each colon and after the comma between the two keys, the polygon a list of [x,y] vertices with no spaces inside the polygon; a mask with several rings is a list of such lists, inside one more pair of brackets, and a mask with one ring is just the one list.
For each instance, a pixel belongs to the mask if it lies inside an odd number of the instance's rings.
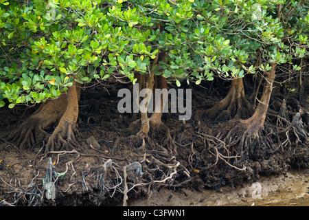
{"label": "dark root-strewn soil under the trees, excluding the pale wet strip", "polygon": [[[214,82],[218,83],[218,82]],[[71,151],[41,151],[43,142],[33,151],[2,138],[21,124],[36,107],[0,109],[0,199],[2,205],[14,206],[100,206],[126,205],[157,192],[170,190],[220,190],[222,186],[238,186],[243,181],[258,181],[261,175],[284,174],[290,169],[308,168],[308,136],[299,137],[292,130],[278,133],[287,126],[278,124],[275,113],[282,105],[282,91],[273,92],[269,115],[262,135],[269,135],[271,148],[257,146],[244,157],[233,149],[216,149],[226,122],[207,119],[205,110],[211,103],[225,97],[229,82],[217,89],[211,84],[192,87],[192,119],[183,123],[177,113],[163,113],[162,122],[170,128],[177,154],[163,147],[165,135],[152,133],[143,141],[128,127],[139,115],[117,111],[117,89],[107,85],[82,89],[76,138],[80,144]],[[171,85],[172,86],[172,85]],[[107,89],[107,91],[106,91]],[[247,98],[253,103],[252,91]],[[297,94],[286,100],[288,121],[302,109],[304,131],[308,134],[308,88],[306,100],[299,103]],[[254,98],[254,96],[253,96]],[[47,131],[52,133],[56,124]],[[2,137],[1,137],[2,136]],[[278,138],[279,137],[279,138]],[[279,143],[286,142],[284,146]],[[218,157],[218,153],[226,157]],[[231,154],[229,154],[231,153]],[[49,158],[52,165],[49,164]],[[49,184],[47,184],[49,183]],[[0,201],[0,202],[1,202]]]}

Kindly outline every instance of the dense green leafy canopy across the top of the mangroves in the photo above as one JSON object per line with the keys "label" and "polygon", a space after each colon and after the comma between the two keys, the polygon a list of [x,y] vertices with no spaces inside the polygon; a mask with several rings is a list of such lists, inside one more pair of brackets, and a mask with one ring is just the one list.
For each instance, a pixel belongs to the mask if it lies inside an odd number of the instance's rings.
{"label": "dense green leafy canopy across the top of the mangroves", "polygon": [[305,0],[0,0],[0,107],[113,74],[242,78],[308,56],[308,24]]}

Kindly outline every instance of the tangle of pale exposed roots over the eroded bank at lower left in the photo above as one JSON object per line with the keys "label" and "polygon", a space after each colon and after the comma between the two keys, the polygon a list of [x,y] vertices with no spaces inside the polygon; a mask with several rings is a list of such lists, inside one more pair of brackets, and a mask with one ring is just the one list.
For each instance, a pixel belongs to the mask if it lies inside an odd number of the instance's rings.
{"label": "tangle of pale exposed roots over the eroded bank at lower left", "polygon": [[[75,159],[62,164],[60,157],[67,156]],[[54,162],[52,157],[54,157]],[[102,164],[95,167],[85,164],[84,168],[78,171],[75,166],[81,157],[100,157]],[[38,153],[33,159],[33,164],[36,164],[37,159],[38,162],[47,159],[43,186],[36,184],[37,181],[40,181],[36,179],[40,173],[37,170],[27,190],[17,190],[14,187],[16,193],[14,201],[0,203],[0,206],[14,206],[19,205],[19,203],[28,203],[29,206],[42,206],[46,201],[56,200],[60,196],[58,195],[59,192],[70,193],[77,188],[80,188],[82,193],[87,193],[89,201],[98,206],[106,197],[119,199],[121,196],[124,196],[123,203],[126,205],[132,193],[146,192],[150,195],[152,189],[157,190],[161,186],[179,187],[191,181],[190,172],[176,160],[176,157],[157,155],[152,151],[148,151],[144,154],[144,157],[135,162],[112,160],[106,158],[106,155],[100,154],[86,155],[75,149]],[[36,166],[33,165],[33,167]],[[187,178],[179,181],[176,177],[182,175],[182,173]]]}

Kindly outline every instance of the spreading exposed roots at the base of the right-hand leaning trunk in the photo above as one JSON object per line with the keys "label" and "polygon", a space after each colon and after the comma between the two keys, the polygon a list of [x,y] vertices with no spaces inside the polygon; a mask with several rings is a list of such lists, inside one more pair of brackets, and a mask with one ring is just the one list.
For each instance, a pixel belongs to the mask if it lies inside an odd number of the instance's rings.
{"label": "spreading exposed roots at the base of the right-hand leaning trunk", "polygon": [[[225,123],[218,133],[209,135],[197,131],[196,136],[201,137],[207,152],[214,155],[214,161],[201,170],[215,168],[219,162],[224,162],[229,168],[244,171],[249,166],[249,160],[258,160],[266,153],[274,152],[275,146],[270,136],[263,133],[257,120],[233,120]],[[256,118],[255,118],[256,119]]]}

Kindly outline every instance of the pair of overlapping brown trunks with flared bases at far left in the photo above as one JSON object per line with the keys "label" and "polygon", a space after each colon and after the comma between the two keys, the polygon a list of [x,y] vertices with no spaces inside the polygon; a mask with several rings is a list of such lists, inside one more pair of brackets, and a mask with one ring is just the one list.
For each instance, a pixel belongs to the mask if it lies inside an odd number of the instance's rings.
{"label": "pair of overlapping brown trunks with flared bases at far left", "polygon": [[[54,151],[57,146],[68,148],[76,142],[74,132],[78,118],[80,87],[74,83],[58,99],[47,100],[22,124],[11,131],[6,140],[19,149],[33,148],[36,144],[47,142],[45,151]],[[47,129],[58,122],[52,134]]]}

